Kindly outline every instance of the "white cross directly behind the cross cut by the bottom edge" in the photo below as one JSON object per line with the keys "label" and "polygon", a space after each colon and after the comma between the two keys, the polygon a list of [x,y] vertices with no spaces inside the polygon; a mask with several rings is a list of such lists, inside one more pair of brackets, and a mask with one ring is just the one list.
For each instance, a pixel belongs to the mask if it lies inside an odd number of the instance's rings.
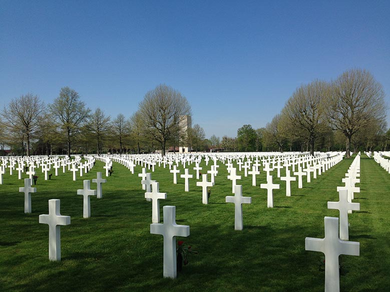
{"label": "white cross directly behind the cross cut by the bottom edge", "polygon": [[349,240],[348,232],[348,210],[360,210],[359,203],[351,203],[347,200],[347,189],[338,191],[338,201],[328,202],[328,209],[338,209],[340,213],[340,239]]}

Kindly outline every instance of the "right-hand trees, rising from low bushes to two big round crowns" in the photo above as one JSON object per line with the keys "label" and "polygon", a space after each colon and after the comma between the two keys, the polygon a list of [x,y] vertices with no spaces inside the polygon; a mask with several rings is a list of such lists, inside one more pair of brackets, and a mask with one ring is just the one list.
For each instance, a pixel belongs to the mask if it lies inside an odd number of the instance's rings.
{"label": "right-hand trees, rising from low bushes to two big round crowns", "polygon": [[265,127],[243,125],[237,137],[212,137],[230,151],[386,150],[390,129],[382,85],[363,69],[330,82],[313,80],[292,93]]}

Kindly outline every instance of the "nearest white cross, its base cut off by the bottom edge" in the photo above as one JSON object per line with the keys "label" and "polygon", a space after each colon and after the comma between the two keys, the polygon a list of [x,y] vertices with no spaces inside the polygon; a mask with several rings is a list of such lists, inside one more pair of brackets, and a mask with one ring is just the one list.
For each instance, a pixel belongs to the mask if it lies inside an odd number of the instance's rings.
{"label": "nearest white cross, its base cut off by the bottom edge", "polygon": [[321,251],[325,254],[325,292],[340,290],[338,256],[340,254],[359,255],[359,242],[344,241],[338,238],[338,218],[324,217],[325,237],[305,238],[305,249]]}

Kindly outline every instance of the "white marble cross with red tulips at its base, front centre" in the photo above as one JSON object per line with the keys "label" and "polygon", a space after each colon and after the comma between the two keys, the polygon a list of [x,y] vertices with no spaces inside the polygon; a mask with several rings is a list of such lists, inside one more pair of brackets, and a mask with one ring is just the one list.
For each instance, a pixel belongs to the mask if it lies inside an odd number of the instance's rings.
{"label": "white marble cross with red tulips at its base, front centre", "polygon": [[176,224],[175,206],[164,206],[163,216],[163,224],[150,224],[150,233],[164,236],[164,277],[176,278],[176,236],[190,235],[190,226]]}

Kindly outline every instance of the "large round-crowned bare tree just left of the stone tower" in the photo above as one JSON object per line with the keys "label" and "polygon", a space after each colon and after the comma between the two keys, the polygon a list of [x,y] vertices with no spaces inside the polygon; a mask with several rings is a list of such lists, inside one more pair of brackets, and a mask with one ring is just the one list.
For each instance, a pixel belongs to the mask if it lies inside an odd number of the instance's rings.
{"label": "large round-crowned bare tree just left of the stone tower", "polygon": [[191,107],[179,91],[160,84],[145,94],[139,104],[139,114],[146,132],[160,142],[162,155],[165,156],[167,140],[176,133],[180,117],[191,114]]}

